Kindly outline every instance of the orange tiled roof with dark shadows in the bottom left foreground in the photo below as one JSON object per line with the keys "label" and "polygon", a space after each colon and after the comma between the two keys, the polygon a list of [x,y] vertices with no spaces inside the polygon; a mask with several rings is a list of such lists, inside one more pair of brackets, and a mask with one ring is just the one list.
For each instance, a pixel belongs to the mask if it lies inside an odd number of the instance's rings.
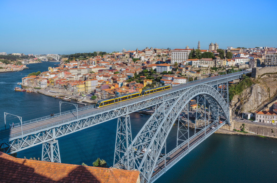
{"label": "orange tiled roof with dark shadows in the bottom left foreground", "polygon": [[20,159],[0,152],[0,182],[139,182],[138,171]]}

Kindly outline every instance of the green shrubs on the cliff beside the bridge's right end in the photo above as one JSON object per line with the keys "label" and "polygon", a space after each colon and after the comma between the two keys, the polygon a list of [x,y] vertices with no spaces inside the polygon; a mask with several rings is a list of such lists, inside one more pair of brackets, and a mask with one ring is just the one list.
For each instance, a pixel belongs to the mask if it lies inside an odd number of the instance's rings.
{"label": "green shrubs on the cliff beside the bridge's right end", "polygon": [[231,84],[229,86],[229,101],[231,102],[235,95],[241,94],[244,89],[250,87],[252,84],[254,84],[254,82],[251,78],[243,79],[236,84]]}

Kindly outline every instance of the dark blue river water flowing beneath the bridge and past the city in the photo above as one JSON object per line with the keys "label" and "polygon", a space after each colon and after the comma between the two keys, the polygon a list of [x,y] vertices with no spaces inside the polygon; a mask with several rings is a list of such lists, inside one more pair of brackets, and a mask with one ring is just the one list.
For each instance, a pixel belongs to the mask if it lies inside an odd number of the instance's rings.
{"label": "dark blue river water flowing beneath the bridge and past the city", "polygon": [[[0,125],[4,125],[4,112],[22,117],[22,121],[59,111],[60,99],[39,93],[16,92],[14,87],[31,72],[46,71],[58,62],[29,64],[20,72],[0,73]],[[75,103],[73,100],[72,103]],[[83,107],[79,104],[78,107]],[[65,105],[62,111],[74,109]],[[150,117],[130,114],[133,138]],[[7,117],[7,123],[14,117]],[[19,122],[19,121],[18,121]],[[113,164],[117,120],[111,120],[65,137],[58,138],[61,162],[92,166],[99,157]],[[167,139],[167,152],[176,146],[177,126],[173,126]],[[181,159],[156,182],[277,182],[276,140],[212,134],[187,156]],[[19,158],[40,157],[42,145],[17,153]]]}

